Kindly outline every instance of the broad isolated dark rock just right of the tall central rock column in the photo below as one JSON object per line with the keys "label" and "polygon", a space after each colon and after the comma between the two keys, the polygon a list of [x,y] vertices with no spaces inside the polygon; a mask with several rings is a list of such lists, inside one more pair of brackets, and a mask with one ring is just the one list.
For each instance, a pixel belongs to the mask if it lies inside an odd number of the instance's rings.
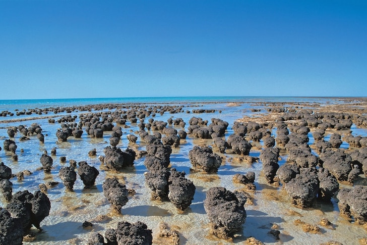
{"label": "broad isolated dark rock just right of the tall central rock column", "polygon": [[204,172],[217,172],[222,164],[222,159],[213,153],[210,146],[194,146],[189,151],[189,159],[194,169],[200,169]]}

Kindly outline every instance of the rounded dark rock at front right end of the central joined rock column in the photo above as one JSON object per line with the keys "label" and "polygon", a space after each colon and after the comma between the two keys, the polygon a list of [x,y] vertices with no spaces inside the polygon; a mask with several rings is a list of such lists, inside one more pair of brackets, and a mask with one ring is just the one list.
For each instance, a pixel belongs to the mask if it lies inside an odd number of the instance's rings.
{"label": "rounded dark rock at front right end of the central joined rock column", "polygon": [[194,183],[185,178],[185,172],[177,172],[172,168],[168,178],[168,199],[180,210],[187,209],[195,194]]}

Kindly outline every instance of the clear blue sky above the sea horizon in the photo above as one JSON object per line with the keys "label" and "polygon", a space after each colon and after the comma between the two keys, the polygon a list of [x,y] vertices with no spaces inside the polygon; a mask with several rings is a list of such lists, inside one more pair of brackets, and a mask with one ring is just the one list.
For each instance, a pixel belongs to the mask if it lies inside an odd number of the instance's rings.
{"label": "clear blue sky above the sea horizon", "polygon": [[0,1],[1,99],[367,96],[367,1]]}

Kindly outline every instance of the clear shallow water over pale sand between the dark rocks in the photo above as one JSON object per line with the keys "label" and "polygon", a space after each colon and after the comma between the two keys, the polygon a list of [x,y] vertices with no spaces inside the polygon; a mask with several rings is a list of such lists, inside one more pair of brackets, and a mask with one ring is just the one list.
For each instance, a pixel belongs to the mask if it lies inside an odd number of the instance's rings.
{"label": "clear shallow water over pale sand between the dark rocks", "polygon": [[[271,98],[252,98],[253,100],[244,100],[243,103],[236,104],[236,106],[228,106],[228,102],[238,102],[238,98],[223,99],[222,103],[212,103],[206,101],[205,103],[198,104],[200,109],[216,109],[215,113],[203,113],[203,114],[187,114],[186,110],[197,109],[189,107],[195,104],[195,101],[191,101],[186,104],[182,104],[184,113],[169,114],[164,113],[163,116],[157,114],[154,117],[155,120],[166,121],[169,117],[182,118],[187,123],[185,129],[189,126],[189,120],[193,116],[201,117],[204,120],[208,120],[210,123],[211,118],[221,118],[224,121],[229,122],[229,127],[226,132],[226,138],[232,134],[231,126],[236,119],[242,116],[250,116],[260,114],[259,112],[251,112],[251,108],[263,108],[263,105],[254,104],[263,101],[271,101]],[[283,98],[284,99],[284,98]],[[204,99],[203,99],[204,100]],[[277,98],[276,100],[280,100]],[[292,98],[285,101],[294,102],[297,98]],[[339,103],[338,100],[331,99],[304,99],[298,98],[299,102],[315,102],[317,100],[319,104],[327,103]],[[164,100],[163,100],[164,101]],[[242,102],[241,100],[239,100]],[[167,103],[173,103],[168,101]],[[58,102],[54,102],[57,105]],[[72,105],[73,102],[70,102]],[[80,105],[78,102],[75,105]],[[90,103],[90,101],[83,103]],[[148,103],[148,102],[147,102]],[[34,105],[34,104],[32,104]],[[84,104],[83,104],[84,105]],[[4,106],[4,104],[3,104]],[[12,108],[32,108],[27,107],[29,105],[16,104],[7,106],[7,110]],[[38,105],[38,107],[48,107],[48,105]],[[54,105],[53,105],[54,106]],[[69,104],[68,104],[69,106]],[[4,106],[6,107],[6,106]],[[219,113],[219,110],[222,112]],[[93,111],[94,112],[94,111]],[[85,112],[73,112],[71,115],[79,115]],[[261,113],[265,113],[264,110]],[[176,168],[178,171],[185,171],[187,178],[191,179],[195,186],[196,192],[194,200],[191,206],[184,212],[176,209],[169,202],[152,201],[150,198],[150,189],[145,185],[144,172],[146,167],[144,166],[144,158],[137,159],[134,162],[134,166],[124,169],[121,172],[104,171],[100,168],[100,161],[98,156],[104,155],[103,149],[109,145],[110,132],[105,132],[103,138],[95,139],[91,138],[84,131],[81,139],[75,139],[69,137],[67,142],[56,143],[57,138],[55,136],[57,128],[60,124],[48,123],[47,117],[58,117],[70,115],[67,113],[60,113],[54,115],[49,113],[48,115],[42,115],[43,119],[27,120],[22,122],[4,122],[0,124],[0,137],[2,139],[9,138],[7,134],[7,127],[26,125],[29,127],[32,123],[38,123],[45,135],[45,142],[40,143],[36,136],[31,136],[30,140],[19,141],[22,136],[19,132],[15,135],[14,139],[18,145],[16,151],[18,155],[18,161],[12,160],[11,154],[6,153],[4,150],[0,152],[0,161],[5,165],[12,168],[13,173],[23,171],[25,169],[33,172],[32,175],[25,176],[23,181],[18,182],[16,178],[11,179],[13,182],[13,193],[19,190],[28,189],[30,192],[38,190],[40,183],[47,181],[60,182],[56,186],[48,189],[48,197],[51,201],[51,210],[48,217],[41,222],[42,232],[38,232],[36,229],[32,229],[36,233],[36,239],[32,242],[24,242],[24,244],[80,244],[85,243],[89,234],[92,232],[100,232],[103,234],[107,228],[116,228],[119,221],[128,221],[135,223],[137,221],[144,222],[148,225],[149,229],[153,231],[154,243],[159,244],[157,234],[159,231],[159,222],[165,222],[168,227],[176,229],[180,235],[180,244],[232,244],[243,243],[243,241],[250,236],[254,236],[260,241],[268,244],[320,244],[335,240],[343,244],[358,244],[358,239],[365,236],[365,229],[361,226],[351,224],[345,218],[339,216],[337,200],[333,198],[330,204],[319,204],[308,210],[301,210],[293,207],[290,204],[290,198],[288,194],[282,189],[282,186],[267,184],[265,178],[261,175],[262,164],[260,161],[253,164],[237,161],[237,155],[231,154],[218,154],[223,156],[222,166],[219,168],[218,173],[204,174],[201,172],[190,172],[191,163],[188,158],[189,151],[196,144],[206,143],[212,145],[212,140],[194,139],[188,135],[186,140],[181,140],[179,148],[172,149],[171,154],[171,167]],[[38,115],[24,116],[23,118],[36,118]],[[21,117],[3,117],[1,120],[22,118]],[[148,118],[146,118],[146,121]],[[79,119],[76,120],[79,122]],[[120,143],[117,145],[121,150],[125,150],[129,145],[129,141],[126,135],[134,133],[138,130],[138,124],[130,123],[127,121],[127,125],[130,128],[123,128],[123,136]],[[180,127],[175,127],[177,131]],[[366,136],[366,129],[356,128],[355,125],[351,128],[351,131],[355,135]],[[274,132],[274,130],[273,130]],[[150,133],[152,133],[150,131]],[[331,132],[330,132],[331,133]],[[47,134],[47,136],[46,136]],[[140,140],[138,134],[137,144],[139,150],[145,149],[145,143]],[[312,134],[310,136],[310,144],[313,142]],[[326,136],[328,137],[328,136]],[[262,141],[257,143],[258,146],[262,145]],[[342,148],[348,148],[347,143],[343,143]],[[37,167],[40,167],[40,157],[46,150],[50,153],[51,149],[56,147],[56,156],[53,158],[53,169],[51,173],[44,173],[43,171],[36,171]],[[89,157],[88,152],[92,149],[96,149],[97,157]],[[21,149],[24,150],[21,153]],[[250,153],[253,157],[259,157],[259,150],[251,150]],[[67,158],[66,163],[60,163],[59,158],[65,156]],[[287,156],[281,156],[282,160],[279,164],[286,162]],[[96,185],[91,189],[84,189],[83,182],[79,176],[74,185],[74,191],[66,191],[65,186],[58,177],[58,170],[62,166],[69,166],[69,160],[74,159],[77,162],[87,161],[88,164],[95,166],[100,174],[96,179]],[[233,241],[227,241],[216,238],[210,235],[209,219],[204,210],[205,192],[213,186],[224,186],[227,189],[233,191],[243,188],[243,185],[232,182],[232,177],[236,173],[244,174],[248,171],[254,171],[256,174],[255,184],[256,191],[250,195],[253,198],[253,204],[246,204],[247,220],[243,224],[242,230],[240,230],[235,236]],[[136,194],[129,197],[129,202],[121,209],[121,214],[116,214],[112,211],[110,204],[104,198],[102,193],[102,182],[106,177],[117,177],[121,183],[126,184],[127,188],[133,188]],[[365,183],[364,177],[361,175],[359,180],[361,183]],[[344,186],[349,187],[350,186]],[[0,194],[0,206],[6,206],[6,202]],[[103,220],[97,220],[99,215],[106,215],[107,218]],[[320,234],[305,233],[302,231],[301,225],[296,226],[294,221],[300,219],[303,222],[310,224],[317,224],[321,218],[327,218],[333,225],[332,227],[322,227]],[[85,229],[82,227],[84,221],[90,221],[94,224],[91,229]],[[277,225],[280,234],[280,240],[276,240],[274,236],[269,234],[270,228],[273,225]]]}

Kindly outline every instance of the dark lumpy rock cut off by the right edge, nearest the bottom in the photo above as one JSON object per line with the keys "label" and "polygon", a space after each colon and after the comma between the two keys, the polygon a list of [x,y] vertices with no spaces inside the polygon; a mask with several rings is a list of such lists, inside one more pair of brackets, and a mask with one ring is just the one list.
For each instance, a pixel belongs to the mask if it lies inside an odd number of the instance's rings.
{"label": "dark lumpy rock cut off by the right edge, nearest the bottom", "polygon": [[367,187],[356,185],[353,189],[341,189],[337,194],[340,214],[353,216],[355,223],[367,223]]}

